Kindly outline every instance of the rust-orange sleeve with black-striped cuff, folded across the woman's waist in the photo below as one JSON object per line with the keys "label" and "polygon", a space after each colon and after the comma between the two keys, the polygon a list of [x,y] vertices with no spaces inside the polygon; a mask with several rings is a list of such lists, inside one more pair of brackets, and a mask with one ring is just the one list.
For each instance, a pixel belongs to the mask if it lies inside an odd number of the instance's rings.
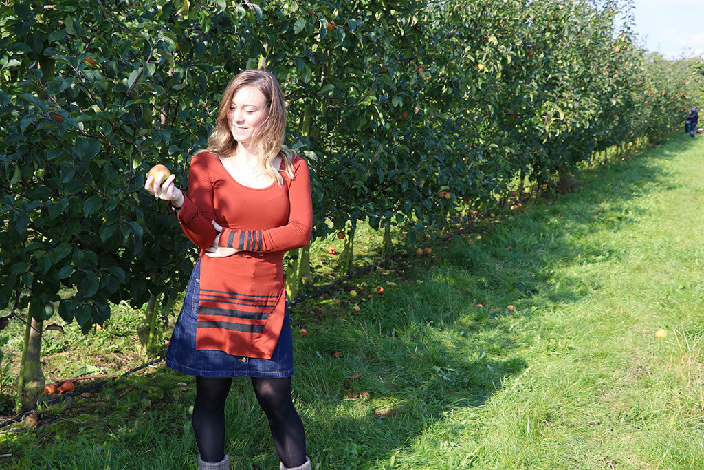
{"label": "rust-orange sleeve with black-striped cuff, folded across the woman's waist", "polygon": [[310,173],[300,157],[294,161],[294,179],[289,183],[289,221],[267,230],[223,228],[218,245],[249,252],[286,252],[305,247],[313,231],[313,202]]}

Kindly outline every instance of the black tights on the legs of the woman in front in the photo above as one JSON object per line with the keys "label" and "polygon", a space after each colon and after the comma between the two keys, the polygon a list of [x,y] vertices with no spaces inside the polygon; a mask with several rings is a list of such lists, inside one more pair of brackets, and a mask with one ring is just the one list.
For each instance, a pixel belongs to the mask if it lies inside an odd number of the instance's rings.
{"label": "black tights on the legs of the woman in front", "polygon": [[[291,378],[251,378],[260,407],[269,420],[274,447],[284,466],[306,462],[306,434],[291,400]],[[196,377],[193,430],[205,462],[225,458],[225,399],[232,378]]]}

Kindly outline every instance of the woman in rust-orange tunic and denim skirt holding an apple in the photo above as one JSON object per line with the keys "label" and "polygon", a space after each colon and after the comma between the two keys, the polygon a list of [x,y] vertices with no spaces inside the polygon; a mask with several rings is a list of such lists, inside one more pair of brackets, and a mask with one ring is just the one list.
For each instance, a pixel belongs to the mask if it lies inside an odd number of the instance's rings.
{"label": "woman in rust-orange tunic and denim skirt holding an apple", "polygon": [[229,469],[225,399],[249,377],[269,421],[282,469],[310,469],[303,423],[291,400],[293,354],[284,252],[313,228],[308,167],[283,149],[286,108],[265,70],[244,70],[220,101],[210,150],[191,160],[188,193],[149,176],[184,233],[201,248],[174,327],[166,365],[196,376],[193,428],[200,469]]}

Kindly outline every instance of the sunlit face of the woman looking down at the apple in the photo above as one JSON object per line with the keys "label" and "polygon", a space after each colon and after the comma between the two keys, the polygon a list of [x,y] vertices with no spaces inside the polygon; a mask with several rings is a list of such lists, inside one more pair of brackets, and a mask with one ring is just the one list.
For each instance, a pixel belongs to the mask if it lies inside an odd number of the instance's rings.
{"label": "sunlit face of the woman looking down at the apple", "polygon": [[266,99],[257,87],[246,86],[237,90],[227,112],[227,125],[234,140],[239,144],[249,144],[252,137],[260,132],[266,115]]}

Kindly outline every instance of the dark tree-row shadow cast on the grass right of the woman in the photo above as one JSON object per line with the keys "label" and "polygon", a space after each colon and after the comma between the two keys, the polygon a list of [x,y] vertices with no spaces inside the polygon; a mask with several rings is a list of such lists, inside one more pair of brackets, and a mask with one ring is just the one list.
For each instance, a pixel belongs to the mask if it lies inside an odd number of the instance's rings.
{"label": "dark tree-row shadow cast on the grass right of the woman", "polygon": [[[325,338],[307,340],[294,385],[323,468],[384,468],[453,409],[482,406],[527,369],[529,358],[513,350],[512,328],[539,309],[536,302],[579,302],[600,288],[588,274],[561,274],[558,283],[555,266],[620,259],[620,247],[583,235],[636,223],[647,212],[636,199],[676,187],[655,160],[672,159],[687,144],[676,138],[645,158],[583,171],[576,193],[529,206],[528,214],[482,231],[481,241],[463,237],[436,249],[443,264],[417,273],[422,282],[344,314],[322,328]],[[522,309],[508,311],[514,303]],[[332,359],[335,351],[344,360]],[[370,398],[360,403],[362,392]]]}

